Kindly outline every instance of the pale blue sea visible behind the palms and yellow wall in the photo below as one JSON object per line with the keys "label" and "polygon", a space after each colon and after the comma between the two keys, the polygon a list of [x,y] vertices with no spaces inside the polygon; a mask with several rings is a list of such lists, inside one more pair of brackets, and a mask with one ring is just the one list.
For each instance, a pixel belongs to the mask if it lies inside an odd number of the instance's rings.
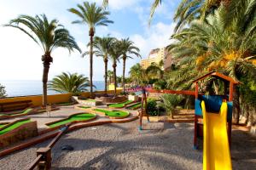
{"label": "pale blue sea visible behind the palms and yellow wall", "polygon": [[[43,82],[35,80],[8,80],[0,81],[0,84],[5,87],[7,97],[26,96],[26,95],[40,95],[43,94]],[[104,89],[104,81],[94,81],[96,86],[94,91]],[[88,88],[89,90],[89,88]],[[58,92],[48,90],[48,94],[60,94]]]}

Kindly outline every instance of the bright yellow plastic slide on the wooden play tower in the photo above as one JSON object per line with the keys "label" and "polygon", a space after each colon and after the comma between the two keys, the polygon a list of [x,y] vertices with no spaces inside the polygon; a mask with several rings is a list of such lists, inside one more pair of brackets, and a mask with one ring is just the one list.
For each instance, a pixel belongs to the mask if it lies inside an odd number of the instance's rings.
{"label": "bright yellow plastic slide on the wooden play tower", "polygon": [[203,169],[230,170],[232,165],[227,133],[227,103],[222,103],[219,114],[207,113],[204,101],[201,109],[204,122]]}

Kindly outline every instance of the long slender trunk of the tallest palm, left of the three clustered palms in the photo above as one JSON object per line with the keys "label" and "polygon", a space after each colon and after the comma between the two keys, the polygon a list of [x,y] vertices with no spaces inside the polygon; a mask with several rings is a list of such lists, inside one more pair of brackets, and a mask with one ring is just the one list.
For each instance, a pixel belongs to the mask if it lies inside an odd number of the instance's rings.
{"label": "long slender trunk of the tallest palm, left of the three clustered palms", "polygon": [[93,29],[90,29],[89,31],[90,36],[90,98],[92,98],[92,67],[93,67],[93,37],[94,37],[94,31]]}

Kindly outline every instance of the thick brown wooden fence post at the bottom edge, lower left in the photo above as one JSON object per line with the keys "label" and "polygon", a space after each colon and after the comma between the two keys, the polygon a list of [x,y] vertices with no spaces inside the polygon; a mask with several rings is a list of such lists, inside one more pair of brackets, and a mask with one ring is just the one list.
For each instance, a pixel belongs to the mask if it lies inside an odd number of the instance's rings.
{"label": "thick brown wooden fence post at the bottom edge, lower left", "polygon": [[51,167],[51,153],[50,153],[50,148],[39,148],[37,150],[37,156],[41,156],[41,159],[38,163],[38,169],[39,170],[49,170]]}

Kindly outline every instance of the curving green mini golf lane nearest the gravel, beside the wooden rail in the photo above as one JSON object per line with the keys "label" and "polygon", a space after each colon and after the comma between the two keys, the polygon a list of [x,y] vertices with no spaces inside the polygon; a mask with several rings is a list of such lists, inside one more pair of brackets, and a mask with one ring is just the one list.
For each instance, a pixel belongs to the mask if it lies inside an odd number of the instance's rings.
{"label": "curving green mini golf lane nearest the gravel, beside the wooden rail", "polygon": [[88,122],[95,118],[96,118],[95,114],[79,113],[79,114],[74,114],[72,116],[69,116],[67,119],[62,119],[60,121],[47,123],[46,125],[49,127],[59,127],[61,125],[65,125],[69,122]]}

